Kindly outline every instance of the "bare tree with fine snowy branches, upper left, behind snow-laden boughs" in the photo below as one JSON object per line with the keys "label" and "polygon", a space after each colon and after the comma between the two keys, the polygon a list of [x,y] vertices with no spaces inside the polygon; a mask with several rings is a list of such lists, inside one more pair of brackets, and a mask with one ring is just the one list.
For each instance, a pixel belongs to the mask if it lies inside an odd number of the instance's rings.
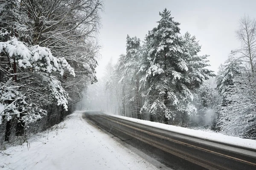
{"label": "bare tree with fine snowy branches, upper left, behind snow-laden boughs", "polygon": [[77,77],[64,74],[62,86],[73,102],[81,99],[84,82],[96,82],[101,0],[23,0],[32,26],[32,45],[49,48],[55,57],[65,57]]}

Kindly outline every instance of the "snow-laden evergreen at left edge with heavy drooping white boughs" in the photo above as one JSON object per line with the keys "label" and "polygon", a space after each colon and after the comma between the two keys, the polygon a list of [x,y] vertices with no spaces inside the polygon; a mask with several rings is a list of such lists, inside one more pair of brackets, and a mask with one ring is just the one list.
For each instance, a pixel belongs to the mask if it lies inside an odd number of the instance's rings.
{"label": "snow-laden evergreen at left edge with heavy drooping white boughs", "polygon": [[[56,101],[56,105],[62,105],[67,110],[68,95],[62,88],[61,82],[51,76],[52,72],[63,75],[64,69],[75,76],[67,60],[53,57],[48,48],[38,45],[27,47],[16,38],[0,42],[0,54],[1,58],[8,58],[9,69],[16,62],[18,71],[6,75],[10,77],[9,80],[1,82],[0,116],[17,115],[21,120],[33,122],[41,118],[39,116],[41,113],[46,113],[41,109],[42,101],[45,102],[44,104]],[[11,81],[15,75],[17,79]]]}

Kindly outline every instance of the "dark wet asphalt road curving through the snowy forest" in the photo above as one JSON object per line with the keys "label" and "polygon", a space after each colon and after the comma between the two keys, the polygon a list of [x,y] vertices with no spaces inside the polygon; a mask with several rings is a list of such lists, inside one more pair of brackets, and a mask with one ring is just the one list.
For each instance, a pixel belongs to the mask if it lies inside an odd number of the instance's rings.
{"label": "dark wet asphalt road curving through the snowy forest", "polygon": [[99,112],[85,112],[83,118],[175,170],[256,170],[255,150],[184,136]]}

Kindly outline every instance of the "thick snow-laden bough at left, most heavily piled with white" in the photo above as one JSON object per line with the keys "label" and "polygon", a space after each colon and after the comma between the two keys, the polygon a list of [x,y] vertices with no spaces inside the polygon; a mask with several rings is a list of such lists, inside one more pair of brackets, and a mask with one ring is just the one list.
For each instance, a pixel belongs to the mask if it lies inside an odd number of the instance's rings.
{"label": "thick snow-laden bough at left, most heavily piled with white", "polygon": [[23,42],[12,38],[7,42],[0,42],[0,53],[6,52],[9,57],[15,59],[20,68],[32,68],[33,71],[41,71],[52,73],[58,71],[61,76],[64,74],[64,69],[70,72],[75,77],[74,69],[68,64],[67,60],[52,56],[49,48],[34,45],[27,47]]}

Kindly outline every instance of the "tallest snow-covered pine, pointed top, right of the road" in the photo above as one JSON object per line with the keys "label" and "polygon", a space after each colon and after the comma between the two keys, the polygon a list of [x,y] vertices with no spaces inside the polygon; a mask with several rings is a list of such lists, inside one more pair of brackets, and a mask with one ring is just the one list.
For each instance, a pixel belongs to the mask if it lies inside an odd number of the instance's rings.
{"label": "tallest snow-covered pine, pointed top, right of the road", "polygon": [[181,58],[183,42],[179,37],[180,24],[173,21],[167,9],[159,14],[161,20],[157,22],[158,26],[145,37],[145,68],[141,70],[145,69],[142,80],[147,90],[142,111],[149,112],[151,117],[157,115],[158,121],[167,123],[169,118],[175,118],[177,111],[182,110],[175,93],[175,79],[180,79],[180,72],[188,68]]}

